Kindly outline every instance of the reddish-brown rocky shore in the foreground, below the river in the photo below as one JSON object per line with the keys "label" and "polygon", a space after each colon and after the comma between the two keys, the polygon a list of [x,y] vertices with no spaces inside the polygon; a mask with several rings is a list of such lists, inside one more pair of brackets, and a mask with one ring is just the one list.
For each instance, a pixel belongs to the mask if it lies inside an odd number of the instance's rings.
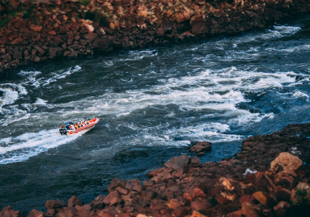
{"label": "reddish-brown rocky shore in the foreground, below the river", "polygon": [[[197,144],[196,144],[197,145]],[[210,144],[204,143],[205,150]],[[201,153],[201,145],[193,152]],[[284,217],[309,216],[310,123],[249,137],[241,151],[220,162],[172,157],[149,179],[113,179],[108,195],[89,204],[78,197],[46,201],[28,217]],[[23,217],[11,206],[0,217]]]}

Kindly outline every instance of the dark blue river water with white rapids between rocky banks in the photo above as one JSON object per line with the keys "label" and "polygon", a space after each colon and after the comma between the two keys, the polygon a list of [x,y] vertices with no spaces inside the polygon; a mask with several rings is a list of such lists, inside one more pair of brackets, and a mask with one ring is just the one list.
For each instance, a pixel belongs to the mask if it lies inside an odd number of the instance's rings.
{"label": "dark blue river water with white rapids between rocky banks", "polygon": [[[308,18],[263,32],[19,69],[0,83],[0,208],[84,202],[113,178],[145,179],[192,141],[202,162],[242,139],[309,122]],[[60,123],[100,118],[61,136]]]}

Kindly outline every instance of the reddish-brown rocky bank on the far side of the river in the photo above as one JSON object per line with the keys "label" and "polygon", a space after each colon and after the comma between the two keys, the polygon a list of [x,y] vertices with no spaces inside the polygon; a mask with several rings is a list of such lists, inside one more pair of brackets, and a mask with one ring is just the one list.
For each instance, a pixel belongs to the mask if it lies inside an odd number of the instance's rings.
{"label": "reddish-brown rocky bank on the far side of the river", "polygon": [[2,0],[0,78],[55,57],[167,46],[272,28],[308,0]]}

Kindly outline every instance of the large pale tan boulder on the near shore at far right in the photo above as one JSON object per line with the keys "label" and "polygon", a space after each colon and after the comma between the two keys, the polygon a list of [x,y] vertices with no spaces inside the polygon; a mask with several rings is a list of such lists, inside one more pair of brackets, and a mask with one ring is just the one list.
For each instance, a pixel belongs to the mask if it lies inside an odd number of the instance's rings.
{"label": "large pale tan boulder on the near shore at far right", "polygon": [[277,165],[281,165],[283,168],[294,171],[302,166],[303,162],[297,156],[294,156],[288,152],[281,152],[278,157],[270,163],[272,170],[276,170]]}

